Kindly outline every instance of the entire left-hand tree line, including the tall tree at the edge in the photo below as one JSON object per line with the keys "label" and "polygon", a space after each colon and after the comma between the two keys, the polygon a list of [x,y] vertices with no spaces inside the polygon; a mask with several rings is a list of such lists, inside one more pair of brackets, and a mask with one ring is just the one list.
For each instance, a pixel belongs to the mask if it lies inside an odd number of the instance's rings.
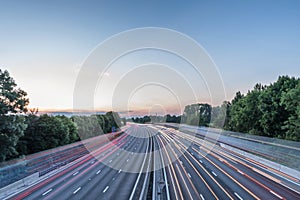
{"label": "entire left-hand tree line, including the tall tree at the edge", "polygon": [[[0,162],[117,130],[118,113],[90,116],[38,115],[27,93],[0,69]],[[123,122],[124,123],[124,122]]]}

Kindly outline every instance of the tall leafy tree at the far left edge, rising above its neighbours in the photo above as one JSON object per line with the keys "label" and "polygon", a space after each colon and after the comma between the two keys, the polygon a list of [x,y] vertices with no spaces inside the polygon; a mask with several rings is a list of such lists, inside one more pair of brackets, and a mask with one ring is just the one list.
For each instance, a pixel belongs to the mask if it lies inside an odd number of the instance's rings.
{"label": "tall leafy tree at the far left edge, rising above its neighbours", "polygon": [[16,145],[26,129],[24,116],[19,115],[27,112],[26,96],[8,71],[0,69],[0,162],[18,154]]}

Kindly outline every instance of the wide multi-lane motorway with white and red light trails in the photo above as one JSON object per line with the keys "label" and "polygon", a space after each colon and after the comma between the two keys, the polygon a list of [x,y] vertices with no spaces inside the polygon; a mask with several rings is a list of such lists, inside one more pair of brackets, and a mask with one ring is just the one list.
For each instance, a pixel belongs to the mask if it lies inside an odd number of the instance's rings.
{"label": "wide multi-lane motorway with white and red light trails", "polygon": [[212,141],[130,124],[118,138],[7,199],[300,199],[299,188],[298,179]]}

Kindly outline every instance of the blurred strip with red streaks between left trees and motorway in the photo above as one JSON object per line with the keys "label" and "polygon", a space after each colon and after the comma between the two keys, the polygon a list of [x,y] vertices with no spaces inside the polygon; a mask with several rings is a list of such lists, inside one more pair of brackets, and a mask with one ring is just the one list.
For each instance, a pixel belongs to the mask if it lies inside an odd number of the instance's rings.
{"label": "blurred strip with red streaks between left trees and motorway", "polygon": [[76,143],[45,150],[39,153],[26,156],[25,159],[16,159],[1,163],[0,188],[23,180],[33,174],[43,176],[55,169],[58,169],[84,155],[93,149],[99,148],[108,141],[118,137],[126,129],[82,140]]}

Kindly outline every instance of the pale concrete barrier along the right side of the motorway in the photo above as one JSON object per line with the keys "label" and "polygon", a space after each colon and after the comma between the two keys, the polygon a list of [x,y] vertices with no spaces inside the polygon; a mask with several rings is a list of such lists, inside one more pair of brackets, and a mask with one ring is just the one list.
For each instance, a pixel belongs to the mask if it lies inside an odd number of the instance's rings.
{"label": "pale concrete barrier along the right side of the motorway", "polygon": [[220,145],[223,148],[226,148],[226,149],[229,149],[231,151],[234,151],[234,152],[236,152],[236,153],[238,153],[240,155],[243,155],[243,156],[245,156],[247,158],[251,158],[251,159],[253,159],[253,160],[255,160],[255,161],[257,161],[257,162],[259,162],[261,164],[264,164],[264,165],[266,165],[266,166],[268,166],[270,168],[273,168],[275,170],[278,170],[278,171],[280,171],[282,173],[285,173],[285,174],[287,174],[287,175],[289,175],[291,177],[294,177],[294,178],[300,180],[300,172],[297,171],[297,170],[295,170],[295,169],[292,169],[292,168],[289,168],[287,166],[284,166],[284,165],[275,163],[273,161],[267,160],[265,158],[262,158],[262,157],[250,154],[248,152],[242,151],[242,150],[240,150],[238,148],[231,147],[231,146],[223,144],[223,143],[220,143]]}

